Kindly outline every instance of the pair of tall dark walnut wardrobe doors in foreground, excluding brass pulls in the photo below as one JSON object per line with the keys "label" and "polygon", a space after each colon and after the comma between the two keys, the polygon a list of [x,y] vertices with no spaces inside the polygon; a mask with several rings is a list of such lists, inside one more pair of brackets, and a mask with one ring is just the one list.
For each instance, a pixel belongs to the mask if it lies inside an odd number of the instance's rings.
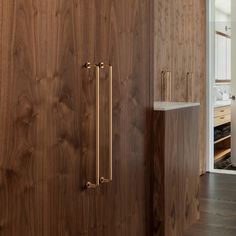
{"label": "pair of tall dark walnut wardrobe doors in foreground, excluding brass pulls", "polygon": [[[149,1],[0,1],[0,235],[150,233]],[[111,63],[114,180],[95,180],[95,80]],[[101,89],[106,89],[101,73]],[[101,172],[107,171],[101,92]]]}

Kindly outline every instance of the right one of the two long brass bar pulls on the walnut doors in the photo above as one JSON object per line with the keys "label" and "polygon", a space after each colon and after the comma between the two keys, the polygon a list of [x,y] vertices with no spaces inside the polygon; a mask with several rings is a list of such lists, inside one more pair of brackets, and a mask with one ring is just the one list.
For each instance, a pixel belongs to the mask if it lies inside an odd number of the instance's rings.
{"label": "right one of the two long brass bar pulls on the walnut doors", "polygon": [[101,177],[100,183],[109,183],[112,181],[112,66],[105,65],[100,63],[100,68],[108,67],[109,68],[109,174],[108,178]]}

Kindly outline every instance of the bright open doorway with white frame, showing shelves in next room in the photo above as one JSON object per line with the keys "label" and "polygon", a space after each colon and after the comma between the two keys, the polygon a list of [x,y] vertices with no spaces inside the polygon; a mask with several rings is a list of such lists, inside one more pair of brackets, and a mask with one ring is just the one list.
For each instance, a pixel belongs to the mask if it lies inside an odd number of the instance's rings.
{"label": "bright open doorway with white frame, showing shelves in next room", "polygon": [[208,171],[228,174],[236,174],[234,5],[208,1]]}

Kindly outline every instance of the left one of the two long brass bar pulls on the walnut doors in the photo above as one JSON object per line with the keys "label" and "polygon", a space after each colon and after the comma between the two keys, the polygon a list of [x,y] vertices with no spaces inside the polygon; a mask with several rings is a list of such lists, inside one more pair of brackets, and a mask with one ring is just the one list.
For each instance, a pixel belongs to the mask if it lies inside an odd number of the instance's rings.
{"label": "left one of the two long brass bar pulls on the walnut doors", "polygon": [[99,133],[100,133],[100,128],[99,128],[99,120],[100,120],[100,111],[99,111],[99,103],[100,103],[100,96],[99,96],[99,92],[100,92],[100,67],[97,65],[91,65],[89,62],[87,62],[85,64],[85,67],[87,69],[90,69],[91,67],[95,67],[96,68],[96,183],[92,183],[90,181],[88,181],[86,183],[86,188],[96,188],[99,186],[99,159],[100,159],[100,140],[99,140]]}

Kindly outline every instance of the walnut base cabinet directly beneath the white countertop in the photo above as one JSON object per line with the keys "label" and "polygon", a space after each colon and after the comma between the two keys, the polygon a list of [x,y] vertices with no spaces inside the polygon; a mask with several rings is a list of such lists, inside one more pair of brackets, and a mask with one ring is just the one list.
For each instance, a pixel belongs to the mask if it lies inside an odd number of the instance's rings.
{"label": "walnut base cabinet directly beneath the white countertop", "polygon": [[198,108],[154,114],[153,235],[182,236],[199,219]]}

